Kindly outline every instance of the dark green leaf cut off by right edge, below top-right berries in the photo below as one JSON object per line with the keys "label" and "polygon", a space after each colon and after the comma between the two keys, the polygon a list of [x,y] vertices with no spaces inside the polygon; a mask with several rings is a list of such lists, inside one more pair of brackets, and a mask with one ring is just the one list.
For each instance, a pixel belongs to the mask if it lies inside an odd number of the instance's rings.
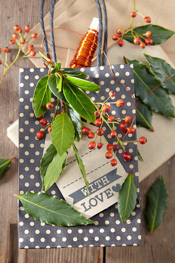
{"label": "dark green leaf cut off by right edge, below top-right berries", "polygon": [[[150,64],[151,72],[156,75],[159,84],[169,93],[175,94],[175,70],[171,65],[164,59],[151,57],[145,53],[143,53],[143,55]],[[172,74],[174,74],[174,76],[169,78]],[[169,79],[166,80],[167,78]],[[166,82],[163,82],[164,80],[166,80]]]}

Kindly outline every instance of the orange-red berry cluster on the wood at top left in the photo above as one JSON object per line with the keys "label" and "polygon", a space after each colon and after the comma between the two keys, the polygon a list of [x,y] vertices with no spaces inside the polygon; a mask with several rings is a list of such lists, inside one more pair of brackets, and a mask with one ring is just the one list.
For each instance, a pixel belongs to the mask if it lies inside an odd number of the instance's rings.
{"label": "orange-red berry cluster on the wood at top left", "polygon": [[[26,36],[26,34],[30,31],[30,26],[29,25],[26,25],[25,27],[24,27],[24,30],[25,30],[25,35],[24,35],[24,37],[22,37],[22,35],[21,35],[21,33],[22,33],[22,29],[18,26],[18,25],[15,25],[14,26],[14,30],[18,33],[13,33],[12,34],[12,38],[10,39],[10,41],[9,41],[9,44],[11,44],[11,45],[14,45],[15,43],[17,44],[17,38],[18,38],[18,35],[19,35],[19,37],[20,37],[20,43],[23,45],[24,43],[25,43],[25,41],[28,41],[29,39],[31,39],[31,38],[36,38],[37,37],[37,33],[32,33],[31,34],[31,37],[30,38],[28,38],[28,39],[25,39],[25,36]],[[29,47],[28,47],[28,51],[30,51],[30,56],[31,57],[34,57],[35,56],[35,51],[33,51],[33,45],[29,45]],[[6,52],[6,53],[8,53],[10,51],[10,49],[8,48],[8,47],[5,47],[4,48],[4,52]]]}

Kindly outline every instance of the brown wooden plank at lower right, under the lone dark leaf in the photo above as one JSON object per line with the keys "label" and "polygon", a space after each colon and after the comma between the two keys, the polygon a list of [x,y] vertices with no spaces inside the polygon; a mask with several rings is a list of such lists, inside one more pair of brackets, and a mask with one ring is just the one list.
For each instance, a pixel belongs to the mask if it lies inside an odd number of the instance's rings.
{"label": "brown wooden plank at lower right, under the lone dark leaf", "polygon": [[[106,247],[106,263],[135,263],[137,262],[174,262],[174,171],[175,156],[169,159],[154,173],[140,183],[141,193],[141,234],[142,246],[140,247]],[[147,192],[153,183],[161,176],[165,180],[169,191],[169,204],[162,224],[150,235],[144,219]]]}

